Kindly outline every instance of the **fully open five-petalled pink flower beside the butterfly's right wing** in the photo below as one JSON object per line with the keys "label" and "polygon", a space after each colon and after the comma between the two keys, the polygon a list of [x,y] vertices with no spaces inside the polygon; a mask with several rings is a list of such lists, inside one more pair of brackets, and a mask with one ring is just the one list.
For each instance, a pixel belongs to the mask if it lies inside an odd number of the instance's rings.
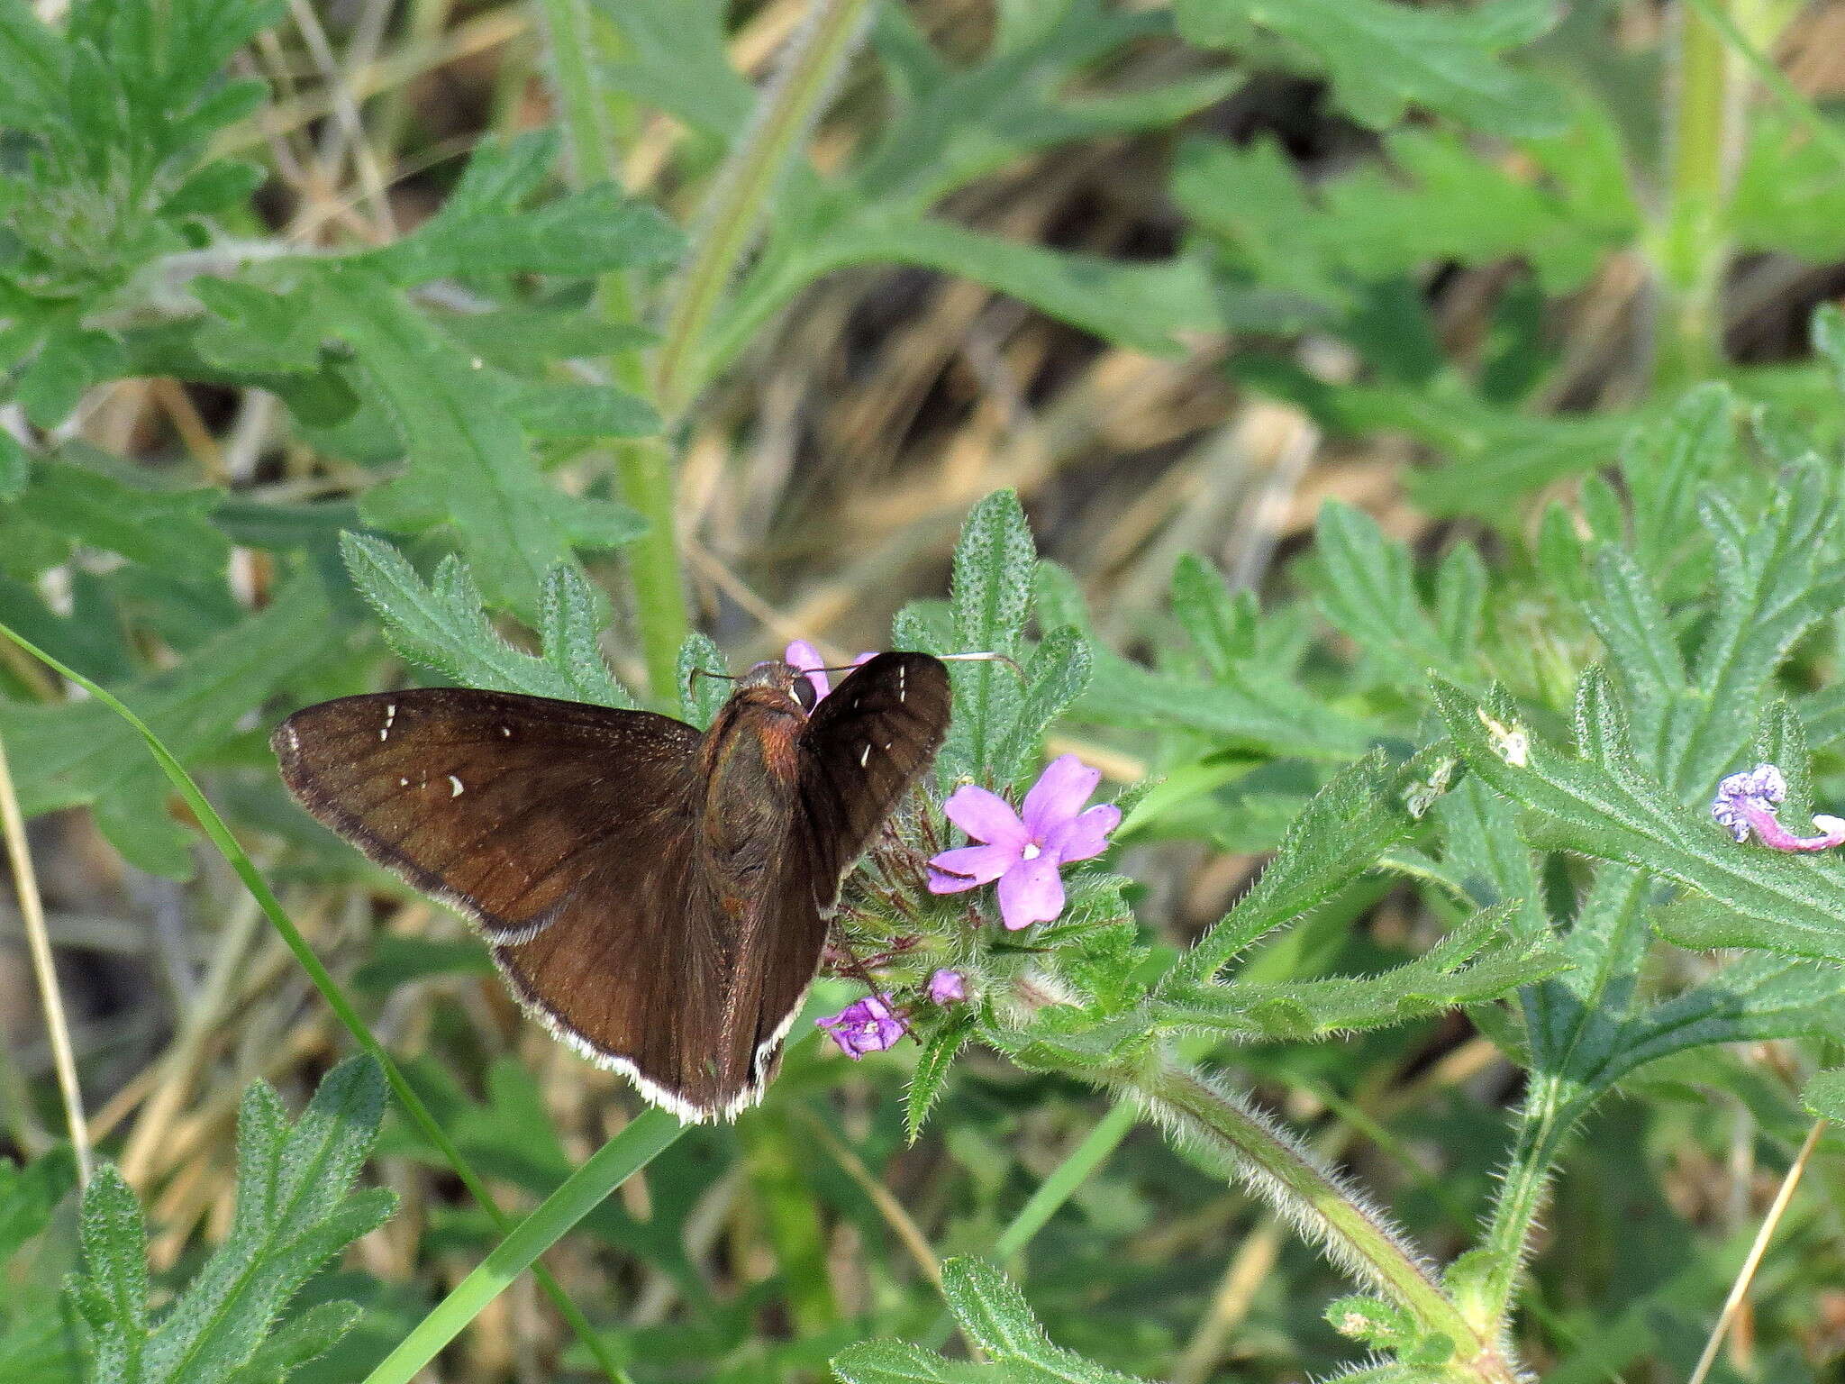
{"label": "fully open five-petalled pink flower beside the butterfly's right wing", "polygon": [[1109,832],[1122,825],[1122,810],[1113,803],[1083,810],[1100,781],[1101,770],[1076,755],[1059,755],[1031,784],[1022,814],[976,784],[954,790],[941,810],[982,845],[930,860],[930,893],[961,893],[998,880],[1000,921],[1007,928],[1050,923],[1063,912],[1057,867],[1100,856]]}

